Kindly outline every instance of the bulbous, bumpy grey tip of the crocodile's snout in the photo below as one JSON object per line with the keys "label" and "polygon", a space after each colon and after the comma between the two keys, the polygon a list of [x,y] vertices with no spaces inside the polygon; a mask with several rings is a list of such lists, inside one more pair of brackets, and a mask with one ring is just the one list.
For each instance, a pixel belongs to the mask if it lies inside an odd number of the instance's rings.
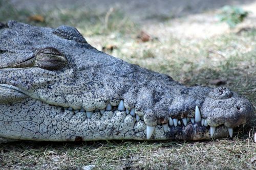
{"label": "bulbous, bumpy grey tip of the crocodile's snout", "polygon": [[230,134],[233,128],[248,122],[252,106],[237,93],[226,87],[219,87],[209,91],[201,112],[212,129],[224,125]]}

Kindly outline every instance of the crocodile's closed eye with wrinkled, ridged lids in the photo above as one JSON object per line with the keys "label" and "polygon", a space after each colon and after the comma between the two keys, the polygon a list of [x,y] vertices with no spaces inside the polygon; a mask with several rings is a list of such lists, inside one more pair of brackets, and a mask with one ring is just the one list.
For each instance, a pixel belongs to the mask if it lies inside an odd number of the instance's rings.
{"label": "crocodile's closed eye with wrinkled, ridged lids", "polygon": [[66,67],[68,64],[67,58],[53,47],[37,50],[35,58],[34,66],[47,70],[58,70]]}

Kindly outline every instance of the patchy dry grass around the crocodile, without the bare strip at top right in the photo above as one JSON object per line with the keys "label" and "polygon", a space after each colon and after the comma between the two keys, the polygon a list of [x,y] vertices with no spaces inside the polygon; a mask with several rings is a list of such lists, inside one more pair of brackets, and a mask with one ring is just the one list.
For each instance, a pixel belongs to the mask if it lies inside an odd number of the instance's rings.
{"label": "patchy dry grass around the crocodile, without the bare strip at top right", "polygon": [[[97,12],[79,7],[44,11],[16,10],[0,0],[0,20],[14,19],[38,26],[71,25],[101,50],[116,45],[111,55],[151,70],[171,75],[186,85],[210,84],[224,79],[256,107],[256,29],[230,32],[211,39],[140,42],[142,26],[120,11]],[[35,22],[29,16],[44,16]],[[108,16],[108,15],[109,16]],[[108,16],[108,19],[105,19]],[[163,25],[169,25],[171,17]],[[106,20],[108,23],[106,23]],[[159,37],[161,38],[161,37]],[[0,169],[256,169],[255,117],[233,139],[208,141],[95,141],[12,142],[0,145]]]}

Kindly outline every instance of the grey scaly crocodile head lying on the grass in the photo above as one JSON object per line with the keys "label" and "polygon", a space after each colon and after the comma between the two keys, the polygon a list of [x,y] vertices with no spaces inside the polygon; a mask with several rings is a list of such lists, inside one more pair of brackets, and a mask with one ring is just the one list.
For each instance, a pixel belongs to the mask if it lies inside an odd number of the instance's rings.
{"label": "grey scaly crocodile head lying on the grass", "polygon": [[1,141],[232,137],[254,114],[227,87],[185,86],[92,47],[77,29],[0,23]]}

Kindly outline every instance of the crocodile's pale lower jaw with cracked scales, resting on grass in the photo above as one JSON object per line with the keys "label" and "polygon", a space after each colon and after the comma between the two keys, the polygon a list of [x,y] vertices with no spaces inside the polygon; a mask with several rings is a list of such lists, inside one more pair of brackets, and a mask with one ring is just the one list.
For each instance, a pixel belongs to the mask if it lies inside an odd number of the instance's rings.
{"label": "crocodile's pale lower jaw with cracked scales, resting on grass", "polygon": [[[36,100],[25,99],[24,102]],[[39,102],[39,101],[37,101]],[[39,102],[45,107],[50,106]],[[0,104],[1,106],[1,104]],[[15,106],[15,105],[14,105]],[[4,107],[4,106],[3,106]],[[5,106],[6,109],[11,106]],[[52,106],[55,107],[55,106]],[[134,139],[134,140],[203,140],[211,139],[210,127],[201,126],[199,123],[187,123],[178,126],[169,126],[164,131],[162,125],[155,127],[150,139],[147,139],[146,124],[143,120],[136,120],[135,116],[127,114],[126,111],[111,110],[103,114],[95,112],[90,118],[86,113],[57,109],[55,113],[27,112],[25,117],[19,117],[16,122],[0,121],[0,138],[16,140],[37,141],[90,141],[111,139]],[[41,119],[35,119],[33,127],[26,117],[40,115]],[[15,117],[15,115],[10,115]],[[44,126],[42,121],[44,120]],[[49,120],[49,121],[48,121]],[[20,122],[20,123],[19,123]],[[28,122],[24,124],[25,122]],[[31,122],[32,123],[32,122]],[[32,128],[32,129],[31,129]],[[20,131],[17,131],[20,130]],[[228,136],[227,128],[219,126],[216,128],[213,138]]]}

